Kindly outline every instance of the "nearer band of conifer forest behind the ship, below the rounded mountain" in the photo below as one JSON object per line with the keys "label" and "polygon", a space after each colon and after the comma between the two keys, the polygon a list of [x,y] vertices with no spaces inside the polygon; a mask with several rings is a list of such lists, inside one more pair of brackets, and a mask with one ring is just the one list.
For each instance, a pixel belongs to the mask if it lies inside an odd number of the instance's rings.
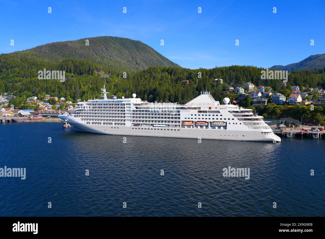
{"label": "nearer band of conifer forest behind the ship, below the rounded mountain", "polygon": [[[82,62],[86,64],[87,62]],[[80,67],[76,64],[76,67]],[[289,74],[285,88],[280,88],[281,80],[261,80],[262,68],[252,66],[228,66],[213,69],[190,70],[180,67],[149,67],[127,77],[115,75],[110,78],[98,75],[66,73],[65,82],[57,80],[39,80],[37,77],[22,79],[13,78],[13,75],[0,74],[0,91],[14,92],[17,97],[42,96],[50,94],[65,97],[69,100],[88,100],[98,98],[100,89],[106,84],[107,90],[118,97],[130,98],[136,93],[142,100],[153,102],[180,102],[186,103],[199,95],[200,91],[211,91],[216,100],[225,97],[223,88],[227,84],[212,84],[216,78],[224,82],[237,82],[243,86],[250,81],[256,86],[271,86],[273,92],[287,90],[290,86],[323,87],[325,88],[325,68],[317,70],[294,71]],[[201,73],[201,78],[199,78]],[[189,84],[182,81],[189,80]],[[230,99],[236,95],[227,95]]]}

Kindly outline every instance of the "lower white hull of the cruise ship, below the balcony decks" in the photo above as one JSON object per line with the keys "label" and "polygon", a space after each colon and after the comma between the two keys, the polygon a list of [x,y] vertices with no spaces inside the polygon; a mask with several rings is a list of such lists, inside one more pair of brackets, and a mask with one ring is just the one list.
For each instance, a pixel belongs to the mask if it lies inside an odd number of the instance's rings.
{"label": "lower white hull of the cruise ship, below the balcony decks", "polygon": [[124,136],[149,136],[188,139],[220,139],[238,141],[268,141],[280,142],[279,136],[274,133],[262,134],[261,130],[229,130],[211,128],[168,128],[168,127],[143,127],[143,126],[110,126],[88,125],[73,116],[59,116],[61,119],[74,126],[74,129],[86,133],[124,135]]}

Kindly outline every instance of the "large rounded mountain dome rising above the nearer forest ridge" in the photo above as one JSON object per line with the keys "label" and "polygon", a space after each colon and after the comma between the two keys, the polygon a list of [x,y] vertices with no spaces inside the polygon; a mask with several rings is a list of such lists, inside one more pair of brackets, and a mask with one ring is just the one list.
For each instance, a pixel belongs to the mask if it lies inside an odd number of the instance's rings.
{"label": "large rounded mountain dome rising above the nearer forest ridge", "polygon": [[[86,46],[89,40],[89,46]],[[150,66],[175,66],[152,47],[122,37],[99,36],[74,41],[53,42],[9,54],[60,62],[64,59],[87,60],[118,69],[143,70]]]}

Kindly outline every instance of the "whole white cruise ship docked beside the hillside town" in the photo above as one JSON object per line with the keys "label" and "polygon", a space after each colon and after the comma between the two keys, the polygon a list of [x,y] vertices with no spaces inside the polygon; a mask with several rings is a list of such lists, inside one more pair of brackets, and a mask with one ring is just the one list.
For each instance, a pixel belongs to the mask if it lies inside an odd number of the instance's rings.
{"label": "whole white cruise ship docked beside the hillside town", "polygon": [[59,118],[77,131],[110,134],[189,139],[222,139],[280,142],[279,136],[263,121],[262,116],[229,103],[214,100],[203,91],[186,104],[150,103],[136,98],[107,98],[102,88],[100,100],[77,104],[77,111]]}

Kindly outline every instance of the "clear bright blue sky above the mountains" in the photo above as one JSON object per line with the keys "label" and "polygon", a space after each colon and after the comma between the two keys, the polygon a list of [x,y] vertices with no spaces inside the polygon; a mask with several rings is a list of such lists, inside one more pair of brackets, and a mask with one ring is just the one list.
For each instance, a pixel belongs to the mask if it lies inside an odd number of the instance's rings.
{"label": "clear bright blue sky above the mountains", "polygon": [[325,1],[0,0],[0,53],[106,35],[139,40],[191,69],[286,65],[325,53],[324,9]]}

